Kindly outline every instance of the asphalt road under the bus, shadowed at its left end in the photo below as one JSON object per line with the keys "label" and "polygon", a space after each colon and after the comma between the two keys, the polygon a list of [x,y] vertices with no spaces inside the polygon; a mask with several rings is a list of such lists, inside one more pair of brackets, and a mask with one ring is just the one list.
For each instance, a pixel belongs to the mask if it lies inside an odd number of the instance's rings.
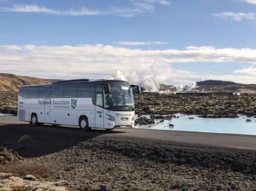
{"label": "asphalt road under the bus, shadowed at its left end", "polygon": [[[205,133],[175,130],[149,130],[134,128],[120,128],[114,129],[112,131],[96,129],[90,132],[83,132],[80,131],[78,128],[63,126],[52,127],[51,125],[44,125],[34,127],[31,126],[28,122],[20,121],[14,117],[0,116],[0,145],[12,145],[12,147],[16,148],[21,146],[22,142],[22,145],[26,147],[26,145],[24,145],[24,142],[29,142],[28,140],[36,141],[35,144],[39,141],[45,143],[49,141],[51,142],[51,144],[58,144],[58,150],[63,149],[69,145],[76,144],[79,141],[87,140],[93,137],[111,137],[115,139],[124,138],[142,141],[144,139],[148,139],[156,143],[164,142],[169,144],[198,144],[207,146],[256,150],[255,135]],[[56,141],[53,141],[54,139],[56,139]],[[62,139],[63,141],[57,141]],[[19,149],[22,148],[19,147]]]}

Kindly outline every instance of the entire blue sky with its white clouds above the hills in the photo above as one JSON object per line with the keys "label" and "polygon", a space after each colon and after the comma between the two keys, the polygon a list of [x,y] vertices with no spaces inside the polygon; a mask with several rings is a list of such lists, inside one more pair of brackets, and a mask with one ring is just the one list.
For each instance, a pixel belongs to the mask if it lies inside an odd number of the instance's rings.
{"label": "entire blue sky with its white clouds above the hills", "polygon": [[256,83],[256,0],[0,0],[0,72]]}

